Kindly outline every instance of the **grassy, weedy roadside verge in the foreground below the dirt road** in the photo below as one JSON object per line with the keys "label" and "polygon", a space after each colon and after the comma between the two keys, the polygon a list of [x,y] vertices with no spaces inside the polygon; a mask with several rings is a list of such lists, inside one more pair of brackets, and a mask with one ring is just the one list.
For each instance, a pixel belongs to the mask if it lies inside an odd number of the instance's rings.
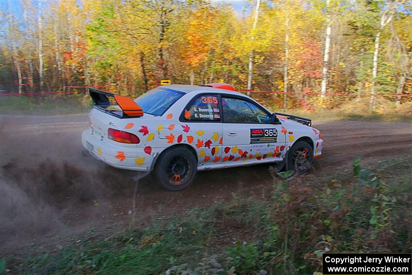
{"label": "grassy, weedy roadside verge in the foreground below the dirt road", "polygon": [[[329,178],[274,178],[266,198],[233,197],[170,222],[85,238],[54,255],[9,258],[21,274],[312,274],[323,252],[412,249],[412,157]],[[282,178],[283,177],[283,178]]]}

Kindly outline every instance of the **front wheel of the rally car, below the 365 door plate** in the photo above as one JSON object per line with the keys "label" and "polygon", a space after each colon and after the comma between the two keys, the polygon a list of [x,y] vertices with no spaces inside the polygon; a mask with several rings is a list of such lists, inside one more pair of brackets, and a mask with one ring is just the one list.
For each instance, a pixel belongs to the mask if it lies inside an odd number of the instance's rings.
{"label": "front wheel of the rally car, below the 365 door plate", "polygon": [[301,175],[306,173],[313,162],[313,148],[305,141],[296,142],[289,150],[287,168]]}

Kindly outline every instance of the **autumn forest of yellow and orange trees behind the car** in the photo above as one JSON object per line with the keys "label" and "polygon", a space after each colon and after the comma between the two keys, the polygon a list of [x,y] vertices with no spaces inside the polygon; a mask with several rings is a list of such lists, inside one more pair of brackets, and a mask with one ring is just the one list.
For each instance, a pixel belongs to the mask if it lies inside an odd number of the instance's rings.
{"label": "autumn forest of yellow and orange trees behind the car", "polygon": [[276,109],[411,113],[411,12],[402,0],[254,0],[240,12],[224,1],[2,0],[0,94],[226,82]]}

